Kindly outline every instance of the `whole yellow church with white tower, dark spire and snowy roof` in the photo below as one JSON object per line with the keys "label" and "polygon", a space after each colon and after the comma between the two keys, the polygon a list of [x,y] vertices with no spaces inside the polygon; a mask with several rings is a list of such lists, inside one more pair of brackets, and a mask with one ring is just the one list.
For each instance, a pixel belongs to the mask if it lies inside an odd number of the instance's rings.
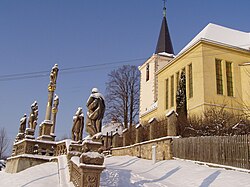
{"label": "whole yellow church with white tower, dark spire and snowy roof", "polygon": [[176,109],[182,71],[188,115],[200,116],[209,107],[249,112],[250,33],[210,23],[175,56],[164,8],[156,51],[139,70],[140,122]]}

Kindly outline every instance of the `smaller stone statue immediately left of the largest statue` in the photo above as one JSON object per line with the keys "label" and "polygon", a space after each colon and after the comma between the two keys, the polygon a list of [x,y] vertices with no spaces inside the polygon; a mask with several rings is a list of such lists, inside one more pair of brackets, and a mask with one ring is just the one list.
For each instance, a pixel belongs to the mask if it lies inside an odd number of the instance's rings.
{"label": "smaller stone statue immediately left of the largest statue", "polygon": [[84,126],[84,116],[82,108],[79,107],[73,117],[72,140],[81,141]]}

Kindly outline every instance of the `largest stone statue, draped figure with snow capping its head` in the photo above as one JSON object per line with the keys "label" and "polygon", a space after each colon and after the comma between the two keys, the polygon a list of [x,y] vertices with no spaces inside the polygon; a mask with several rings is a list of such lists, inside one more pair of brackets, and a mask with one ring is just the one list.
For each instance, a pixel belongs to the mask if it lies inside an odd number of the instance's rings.
{"label": "largest stone statue, draped figure with snow capping its head", "polygon": [[87,101],[87,121],[86,131],[91,137],[100,133],[102,129],[102,119],[105,112],[105,101],[97,88],[92,89],[92,93]]}

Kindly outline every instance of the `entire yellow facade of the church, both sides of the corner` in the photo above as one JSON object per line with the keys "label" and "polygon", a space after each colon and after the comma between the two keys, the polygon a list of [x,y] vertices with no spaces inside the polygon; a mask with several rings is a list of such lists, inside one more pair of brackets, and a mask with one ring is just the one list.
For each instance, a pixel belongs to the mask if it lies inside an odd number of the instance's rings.
{"label": "entire yellow facade of the church, both sides of the corner", "polygon": [[[216,59],[221,62],[222,94],[217,93]],[[189,115],[202,115],[204,110],[211,106],[225,107],[233,113],[245,112],[250,106],[250,63],[248,62],[250,62],[249,50],[199,40],[156,73],[158,105],[153,117],[164,116],[170,110],[176,109],[177,76],[184,68]],[[232,91],[230,92],[232,96],[228,93],[230,88],[227,82],[229,78],[226,73],[226,63],[231,64],[232,68]],[[149,116],[144,115],[140,120],[145,121],[148,118]]]}

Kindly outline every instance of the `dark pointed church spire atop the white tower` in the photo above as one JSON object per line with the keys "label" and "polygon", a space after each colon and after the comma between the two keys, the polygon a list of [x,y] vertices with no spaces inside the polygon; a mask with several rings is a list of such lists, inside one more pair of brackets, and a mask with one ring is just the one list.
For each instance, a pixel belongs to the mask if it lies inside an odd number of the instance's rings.
{"label": "dark pointed church spire atop the white tower", "polygon": [[167,25],[167,18],[166,18],[166,0],[163,0],[164,2],[164,7],[163,7],[163,19],[162,19],[162,24],[161,24],[161,30],[156,46],[155,53],[161,53],[161,52],[166,52],[168,54],[174,54],[169,30],[168,30],[168,25]]}

